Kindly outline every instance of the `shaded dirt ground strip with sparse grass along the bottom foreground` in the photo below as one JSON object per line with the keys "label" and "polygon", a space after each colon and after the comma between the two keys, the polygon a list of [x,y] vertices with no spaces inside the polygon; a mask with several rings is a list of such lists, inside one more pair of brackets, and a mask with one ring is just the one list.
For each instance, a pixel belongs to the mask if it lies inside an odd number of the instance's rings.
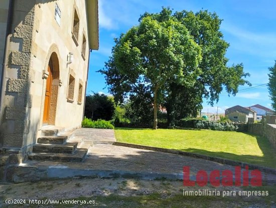
{"label": "shaded dirt ground strip with sparse grass along the bottom foreground", "polygon": [[[212,196],[184,196],[183,189],[220,192]],[[243,190],[267,191],[268,196],[233,196]],[[231,192],[232,191],[232,192]],[[231,192],[232,195],[229,195]],[[215,193],[215,192],[214,192]],[[222,196],[222,194],[228,196]],[[7,199],[9,201],[7,201]],[[8,204],[21,199],[21,204]],[[25,201],[23,201],[25,199]],[[30,200],[40,200],[41,204]],[[52,200],[80,200],[74,204],[49,204]],[[91,204],[80,204],[90,200]],[[42,204],[48,201],[48,205]],[[94,202],[93,202],[94,201]],[[38,202],[38,201],[37,201]],[[77,202],[77,203],[76,203]],[[61,202],[59,202],[61,203]],[[72,178],[63,180],[0,184],[0,207],[276,207],[276,186],[187,187],[183,181]]]}

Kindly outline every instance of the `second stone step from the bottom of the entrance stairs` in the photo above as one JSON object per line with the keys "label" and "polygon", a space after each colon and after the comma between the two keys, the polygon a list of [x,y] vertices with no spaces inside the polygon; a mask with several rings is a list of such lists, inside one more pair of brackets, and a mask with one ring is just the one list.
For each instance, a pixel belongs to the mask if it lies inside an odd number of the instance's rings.
{"label": "second stone step from the bottom of the entrance stairs", "polygon": [[36,144],[33,146],[33,153],[68,153],[72,154],[77,148],[78,143],[58,144]]}

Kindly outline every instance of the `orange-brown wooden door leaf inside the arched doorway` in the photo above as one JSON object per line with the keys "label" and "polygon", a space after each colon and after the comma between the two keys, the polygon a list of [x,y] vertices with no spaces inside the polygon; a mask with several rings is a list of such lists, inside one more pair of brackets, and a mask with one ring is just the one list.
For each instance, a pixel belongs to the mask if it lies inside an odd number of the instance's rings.
{"label": "orange-brown wooden door leaf inside the arched doorway", "polygon": [[51,60],[48,65],[49,76],[46,81],[46,91],[45,91],[45,101],[44,101],[44,113],[43,113],[43,124],[49,123],[49,112],[50,112],[50,101],[51,101],[51,91],[52,91],[52,81],[53,81],[53,69]]}

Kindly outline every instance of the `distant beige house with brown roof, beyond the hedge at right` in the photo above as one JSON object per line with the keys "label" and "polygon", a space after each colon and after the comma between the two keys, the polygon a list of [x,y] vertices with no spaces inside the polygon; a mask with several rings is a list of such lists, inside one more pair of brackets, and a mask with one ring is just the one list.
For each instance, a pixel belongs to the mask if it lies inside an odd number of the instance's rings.
{"label": "distant beige house with brown roof, beyond the hedge at right", "polygon": [[248,122],[248,118],[256,120],[257,113],[247,107],[234,106],[225,110],[225,116],[233,122]]}

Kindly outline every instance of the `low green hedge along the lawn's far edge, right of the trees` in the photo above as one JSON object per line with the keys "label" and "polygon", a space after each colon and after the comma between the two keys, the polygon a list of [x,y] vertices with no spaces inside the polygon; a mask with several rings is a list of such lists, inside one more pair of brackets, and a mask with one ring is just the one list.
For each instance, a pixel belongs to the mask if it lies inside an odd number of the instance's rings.
{"label": "low green hedge along the lawn's far edge, right of the trees", "polygon": [[215,131],[237,131],[240,128],[244,128],[242,125],[237,125],[231,122],[216,122],[216,121],[205,121],[202,119],[183,119],[177,122],[178,127],[184,128],[197,128],[197,129],[210,129]]}

